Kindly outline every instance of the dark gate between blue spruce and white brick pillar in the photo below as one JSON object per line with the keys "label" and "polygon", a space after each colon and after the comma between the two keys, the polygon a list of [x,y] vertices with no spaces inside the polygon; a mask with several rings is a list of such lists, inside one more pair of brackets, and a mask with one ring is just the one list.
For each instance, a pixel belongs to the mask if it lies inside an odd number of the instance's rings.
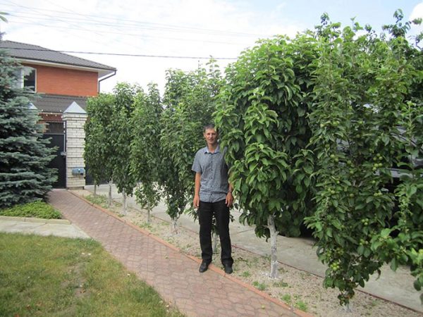
{"label": "dark gate between blue spruce and white brick pillar", "polygon": [[65,155],[65,135],[45,133],[44,139],[50,139],[48,147],[56,147],[54,159],[49,163],[49,168],[57,170],[57,180],[54,182],[54,188],[66,188],[66,155]]}

